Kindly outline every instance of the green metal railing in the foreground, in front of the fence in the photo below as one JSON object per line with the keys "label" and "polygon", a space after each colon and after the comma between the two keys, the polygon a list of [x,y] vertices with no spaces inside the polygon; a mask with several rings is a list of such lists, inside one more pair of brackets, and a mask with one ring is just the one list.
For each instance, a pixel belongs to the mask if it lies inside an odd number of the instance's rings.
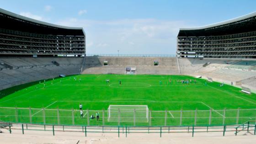
{"label": "green metal railing in the foreground, in front of the fence", "polygon": [[[248,123],[248,122],[246,122]],[[225,136],[226,132],[235,132],[237,135],[241,131],[253,131],[256,134],[256,123],[248,124],[242,128],[237,125],[202,125],[202,126],[88,126],[88,125],[49,125],[49,124],[31,124],[31,123],[7,123],[1,122],[0,128],[5,128],[12,133],[13,130],[20,130],[22,134],[25,131],[49,131],[56,132],[79,132],[85,133],[85,137],[88,133],[117,133],[118,137],[121,134],[125,134],[125,137],[129,133],[159,133],[162,137],[163,133],[191,133],[194,137],[195,133],[208,133],[219,132]],[[240,128],[240,129],[239,129]]]}

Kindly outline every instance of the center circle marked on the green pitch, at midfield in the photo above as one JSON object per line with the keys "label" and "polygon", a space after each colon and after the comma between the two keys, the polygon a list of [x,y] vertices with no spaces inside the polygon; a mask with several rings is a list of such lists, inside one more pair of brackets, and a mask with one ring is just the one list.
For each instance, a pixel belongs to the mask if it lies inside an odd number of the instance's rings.
{"label": "center circle marked on the green pitch, at midfield", "polygon": [[119,83],[110,84],[110,87],[114,88],[123,88],[123,89],[138,89],[138,88],[146,88],[150,87],[151,85],[146,83],[122,83],[121,85]]}

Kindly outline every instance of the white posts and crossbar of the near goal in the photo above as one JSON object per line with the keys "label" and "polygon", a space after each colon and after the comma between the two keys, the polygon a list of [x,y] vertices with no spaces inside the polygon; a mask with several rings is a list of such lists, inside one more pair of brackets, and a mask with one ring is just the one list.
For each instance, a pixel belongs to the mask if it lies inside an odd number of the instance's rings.
{"label": "white posts and crossbar of the near goal", "polygon": [[147,122],[149,122],[149,107],[147,105],[109,105],[107,108],[107,120],[110,121],[110,117],[111,117],[111,107],[131,107],[130,109],[127,110],[122,110],[122,108],[117,108],[117,109],[112,109],[113,111],[116,112],[135,112],[136,108],[134,107],[144,107],[144,109],[137,109],[138,111],[145,111],[146,112],[146,117],[147,118]]}

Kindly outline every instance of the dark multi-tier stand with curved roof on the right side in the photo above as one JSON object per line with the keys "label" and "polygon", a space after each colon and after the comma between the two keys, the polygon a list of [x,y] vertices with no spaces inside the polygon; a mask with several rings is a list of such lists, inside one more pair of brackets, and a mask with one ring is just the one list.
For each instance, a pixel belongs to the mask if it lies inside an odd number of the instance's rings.
{"label": "dark multi-tier stand with curved roof on the right side", "polygon": [[180,28],[176,55],[256,58],[256,12],[203,27]]}

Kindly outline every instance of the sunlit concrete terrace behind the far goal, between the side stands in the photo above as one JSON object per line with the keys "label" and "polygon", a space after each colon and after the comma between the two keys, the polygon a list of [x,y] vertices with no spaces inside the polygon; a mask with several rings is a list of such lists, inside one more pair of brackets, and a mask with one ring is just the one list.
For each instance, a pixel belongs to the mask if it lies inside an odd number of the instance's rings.
{"label": "sunlit concrete terrace behind the far goal, between the side stands", "polygon": [[[154,66],[154,61],[159,65]],[[137,74],[179,74],[176,58],[160,57],[86,57],[82,74],[124,74],[127,66],[135,66]]]}

